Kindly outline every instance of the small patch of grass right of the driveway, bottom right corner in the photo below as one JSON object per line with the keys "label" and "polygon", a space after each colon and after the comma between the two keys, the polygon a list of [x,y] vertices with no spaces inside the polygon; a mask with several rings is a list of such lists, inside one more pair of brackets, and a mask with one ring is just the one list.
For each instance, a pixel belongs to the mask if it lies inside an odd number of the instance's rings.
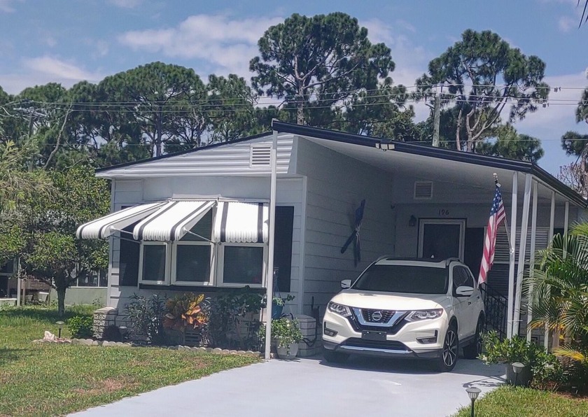
{"label": "small patch of grass right of the driveway, bottom right corner", "polygon": [[[501,386],[476,401],[476,417],[586,417],[588,398],[532,388]],[[470,417],[470,407],[455,417]]]}

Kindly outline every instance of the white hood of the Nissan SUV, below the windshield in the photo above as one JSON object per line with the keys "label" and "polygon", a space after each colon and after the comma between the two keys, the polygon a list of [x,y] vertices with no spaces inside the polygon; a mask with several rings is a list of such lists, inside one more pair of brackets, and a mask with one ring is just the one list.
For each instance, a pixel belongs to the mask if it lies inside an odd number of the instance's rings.
{"label": "white hood of the Nissan SUV, below the windshield", "polygon": [[343,290],[331,301],[360,309],[381,310],[440,309],[450,302],[449,297],[444,294],[393,294],[360,290]]}

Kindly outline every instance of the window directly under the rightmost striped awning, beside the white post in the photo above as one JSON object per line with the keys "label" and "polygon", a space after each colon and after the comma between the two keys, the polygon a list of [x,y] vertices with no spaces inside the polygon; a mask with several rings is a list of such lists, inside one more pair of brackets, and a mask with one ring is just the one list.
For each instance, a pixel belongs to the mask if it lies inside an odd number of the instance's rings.
{"label": "window directly under the rightmost striped awning, beside the white post", "polygon": [[262,286],[266,247],[260,243],[223,245],[219,260],[219,269],[222,269],[221,282],[235,286]]}

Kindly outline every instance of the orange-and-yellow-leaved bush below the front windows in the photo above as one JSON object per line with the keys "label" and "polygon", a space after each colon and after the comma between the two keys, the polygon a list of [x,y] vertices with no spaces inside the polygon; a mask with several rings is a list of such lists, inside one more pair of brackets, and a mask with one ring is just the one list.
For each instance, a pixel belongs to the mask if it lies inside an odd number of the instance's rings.
{"label": "orange-and-yellow-leaved bush below the front windows", "polygon": [[169,331],[169,337],[179,343],[185,343],[186,329],[202,330],[209,321],[209,300],[204,294],[185,292],[165,302],[167,313],[163,327]]}

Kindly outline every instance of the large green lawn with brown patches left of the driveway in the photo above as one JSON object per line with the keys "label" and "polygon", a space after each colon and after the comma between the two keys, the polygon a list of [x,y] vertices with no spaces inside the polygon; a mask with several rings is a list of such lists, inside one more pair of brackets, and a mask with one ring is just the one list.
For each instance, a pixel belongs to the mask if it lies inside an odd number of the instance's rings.
{"label": "large green lawn with brown patches left of the driveway", "polygon": [[[67,316],[91,311],[76,307]],[[258,362],[161,348],[31,343],[45,330],[57,333],[57,320],[52,309],[0,309],[0,416],[62,415]]]}

